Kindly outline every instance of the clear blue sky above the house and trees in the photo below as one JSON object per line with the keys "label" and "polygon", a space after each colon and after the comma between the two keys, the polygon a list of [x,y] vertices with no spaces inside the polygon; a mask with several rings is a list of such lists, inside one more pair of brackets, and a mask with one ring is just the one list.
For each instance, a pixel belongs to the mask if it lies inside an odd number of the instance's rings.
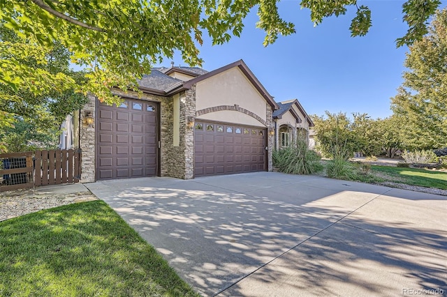
{"label": "clear blue sky above the house and trees", "polygon": [[[329,112],[367,113],[372,118],[390,116],[390,98],[402,84],[407,47],[396,48],[396,38],[404,36],[399,0],[358,1],[372,10],[372,27],[367,36],[351,38],[349,25],[356,9],[346,15],[329,17],[314,27],[300,1],[279,2],[279,13],[295,23],[297,33],[279,36],[276,43],[263,47],[265,33],[256,29],[254,10],[244,21],[240,38],[225,45],[200,47],[203,68],[214,70],[243,59],[265,89],[277,101],[298,98],[309,114]],[[446,6],[445,1],[440,8]],[[169,59],[163,66],[170,66]],[[182,65],[175,54],[175,66]]]}

